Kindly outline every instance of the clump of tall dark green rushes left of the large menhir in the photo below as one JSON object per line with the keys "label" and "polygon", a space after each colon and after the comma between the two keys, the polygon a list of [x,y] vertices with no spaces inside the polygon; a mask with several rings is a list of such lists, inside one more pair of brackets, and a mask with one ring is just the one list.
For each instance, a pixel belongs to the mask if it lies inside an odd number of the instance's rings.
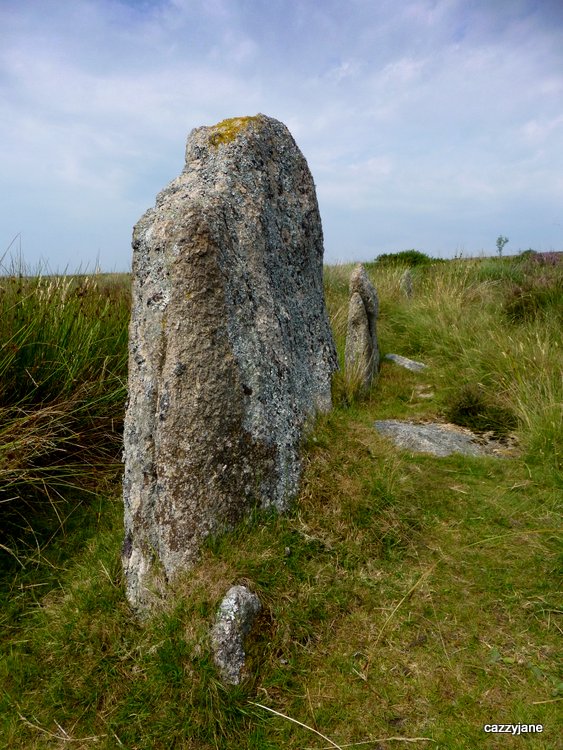
{"label": "clump of tall dark green rushes left of the large menhir", "polygon": [[0,278],[4,550],[26,530],[51,533],[69,493],[116,475],[128,315],[126,276]]}

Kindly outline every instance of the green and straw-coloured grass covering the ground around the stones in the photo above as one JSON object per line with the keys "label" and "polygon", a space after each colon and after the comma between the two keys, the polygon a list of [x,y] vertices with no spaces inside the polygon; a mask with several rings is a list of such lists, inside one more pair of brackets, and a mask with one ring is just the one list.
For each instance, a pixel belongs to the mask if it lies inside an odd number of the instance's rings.
{"label": "green and straw-coloured grass covering the ground around the stones", "polygon": [[[210,540],[201,565],[145,623],[126,606],[119,558],[115,434],[127,316],[112,303],[96,328],[92,312],[108,297],[126,306],[126,281],[89,281],[91,307],[82,320],[83,298],[73,297],[82,281],[51,279],[51,295],[66,288],[65,301],[74,300],[78,356],[85,336],[98,344],[69,368],[73,333],[65,348],[53,347],[59,333],[49,343],[46,334],[24,339],[21,322],[10,329],[24,342],[18,351],[34,346],[42,358],[35,363],[26,352],[25,364],[13,361],[5,372],[15,375],[2,381],[12,394],[2,402],[9,414],[3,424],[11,425],[3,436],[20,440],[17,450],[0,448],[2,479],[11,477],[0,504],[11,524],[0,576],[4,746],[556,747],[563,699],[561,265],[546,270],[530,262],[526,288],[547,283],[555,291],[533,313],[515,317],[517,274],[528,261],[414,268],[410,299],[401,291],[402,269],[368,264],[381,303],[382,354],[411,356],[428,369],[412,373],[383,360],[363,396],[341,372],[335,408],[308,438],[292,511],[256,513]],[[325,274],[341,361],[350,270]],[[45,283],[0,280],[12,295],[19,284],[37,290]],[[55,326],[39,293],[24,298],[28,326],[39,326],[40,314]],[[15,319],[17,297],[10,299],[2,309]],[[91,339],[80,333],[88,320]],[[14,340],[13,333],[4,338]],[[1,357],[11,351],[5,341],[0,347]],[[37,385],[25,379],[26,368]],[[414,455],[372,426],[389,417],[461,421],[467,413],[484,431],[500,419],[517,455]],[[111,459],[104,463],[104,456]],[[210,658],[209,630],[237,583],[258,594],[262,612],[248,642],[246,678],[227,689]],[[544,732],[485,739],[483,725],[495,722],[541,723]]]}

